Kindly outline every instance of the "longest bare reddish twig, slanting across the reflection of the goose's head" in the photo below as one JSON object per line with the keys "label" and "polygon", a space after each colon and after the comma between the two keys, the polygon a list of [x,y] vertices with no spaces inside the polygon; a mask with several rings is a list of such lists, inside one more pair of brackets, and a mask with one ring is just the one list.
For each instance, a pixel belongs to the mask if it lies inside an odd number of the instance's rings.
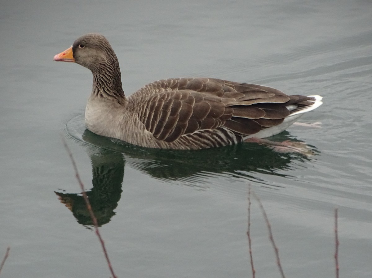
{"label": "longest bare reddish twig, slanting across the reflection of the goose's head", "polygon": [[78,170],[77,170],[76,162],[74,160],[74,157],[73,157],[73,155],[71,153],[70,148],[68,147],[68,145],[67,145],[67,143],[66,143],[66,141],[65,141],[65,139],[63,137],[62,137],[62,141],[63,141],[64,147],[67,150],[68,156],[70,157],[72,166],[73,166],[74,171],[75,171],[75,177],[76,177],[76,179],[77,179],[77,181],[78,181],[78,183],[80,185],[80,188],[81,188],[81,191],[82,191],[82,194],[83,194],[83,198],[85,200],[85,204],[86,204],[87,209],[89,211],[90,218],[92,218],[92,221],[93,221],[93,224],[94,224],[94,230],[96,232],[96,235],[97,235],[97,237],[98,237],[98,239],[99,239],[99,241],[100,241],[100,243],[102,245],[103,253],[105,254],[105,258],[106,258],[107,264],[109,266],[110,272],[111,272],[113,278],[116,278],[116,275],[115,275],[115,273],[114,273],[114,271],[112,269],[112,266],[111,266],[109,255],[108,255],[108,253],[106,251],[105,243],[103,242],[103,239],[102,239],[101,234],[100,234],[99,229],[98,229],[97,218],[96,218],[96,216],[94,216],[94,213],[93,213],[93,210],[92,210],[92,206],[90,205],[90,202],[89,202],[87,193],[85,192],[85,189],[84,189],[83,181],[81,181],[81,179],[80,179],[80,175],[79,175]]}

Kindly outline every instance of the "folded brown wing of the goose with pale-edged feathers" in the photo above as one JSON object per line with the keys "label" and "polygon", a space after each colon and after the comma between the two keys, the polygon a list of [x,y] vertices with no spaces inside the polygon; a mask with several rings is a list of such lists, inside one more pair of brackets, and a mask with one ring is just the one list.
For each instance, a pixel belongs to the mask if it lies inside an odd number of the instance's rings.
{"label": "folded brown wing of the goose with pale-edged feathers", "polygon": [[134,94],[140,121],[158,140],[220,127],[244,136],[281,124],[291,114],[286,105],[307,97],[255,84],[212,78],[177,78],[153,82]]}

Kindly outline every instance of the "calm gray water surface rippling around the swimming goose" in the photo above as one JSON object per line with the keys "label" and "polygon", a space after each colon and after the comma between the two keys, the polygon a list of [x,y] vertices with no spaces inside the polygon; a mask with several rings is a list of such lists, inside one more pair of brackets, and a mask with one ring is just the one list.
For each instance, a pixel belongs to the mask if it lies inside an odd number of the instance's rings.
{"label": "calm gray water surface rippling around the swimming goose", "polygon": [[[102,2],[102,3],[101,3]],[[253,82],[324,104],[275,140],[200,152],[148,150],[85,130],[89,70],[53,56],[105,35],[127,95],[157,79]],[[1,277],[109,277],[61,137],[118,277],[251,277],[248,184],[286,277],[372,277],[371,1],[2,1]],[[310,154],[311,153],[311,154]],[[256,277],[279,277],[252,201]]]}

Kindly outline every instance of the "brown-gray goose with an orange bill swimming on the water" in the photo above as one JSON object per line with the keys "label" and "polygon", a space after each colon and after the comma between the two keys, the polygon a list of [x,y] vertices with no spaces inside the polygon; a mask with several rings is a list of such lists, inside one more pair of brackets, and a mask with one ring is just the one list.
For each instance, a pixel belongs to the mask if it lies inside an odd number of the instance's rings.
{"label": "brown-gray goose with an orange bill swimming on the water", "polygon": [[79,37],[54,60],[93,73],[86,127],[141,147],[199,150],[270,137],[322,104],[319,95],[216,78],[158,80],[126,97],[118,58],[97,33]]}

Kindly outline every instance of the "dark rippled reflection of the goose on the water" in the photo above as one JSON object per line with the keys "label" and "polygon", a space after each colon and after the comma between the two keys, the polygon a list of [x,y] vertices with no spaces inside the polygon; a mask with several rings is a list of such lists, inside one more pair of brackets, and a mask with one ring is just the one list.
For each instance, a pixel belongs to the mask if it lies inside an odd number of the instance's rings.
{"label": "dark rippled reflection of the goose on the water", "polygon": [[[274,139],[282,141],[288,139],[288,136],[288,132],[283,132]],[[181,180],[185,185],[208,188],[212,186],[208,183],[211,175],[224,174],[260,182],[254,173],[286,177],[279,170],[291,169],[294,160],[312,159],[303,153],[278,153],[272,148],[253,143],[199,151],[177,151],[141,148],[101,137],[89,130],[84,131],[82,139],[92,162],[93,187],[87,196],[100,226],[108,223],[115,215],[114,210],[122,193],[125,164],[156,179]],[[317,153],[315,147],[312,147],[311,153]],[[55,193],[60,202],[71,210],[78,223],[93,225],[81,193]]]}

